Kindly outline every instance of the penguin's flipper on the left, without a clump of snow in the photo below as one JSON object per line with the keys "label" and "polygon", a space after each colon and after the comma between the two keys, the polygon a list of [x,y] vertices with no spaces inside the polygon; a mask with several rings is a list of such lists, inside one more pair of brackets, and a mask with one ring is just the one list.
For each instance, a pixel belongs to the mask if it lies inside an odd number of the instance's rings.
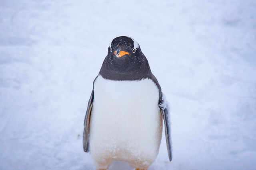
{"label": "penguin's flipper on the left, without a clump of snow", "polygon": [[84,135],[83,135],[84,152],[89,152],[90,117],[92,112],[93,99],[94,99],[94,90],[92,90],[92,94],[88,101],[88,106],[87,106],[87,110],[84,118]]}

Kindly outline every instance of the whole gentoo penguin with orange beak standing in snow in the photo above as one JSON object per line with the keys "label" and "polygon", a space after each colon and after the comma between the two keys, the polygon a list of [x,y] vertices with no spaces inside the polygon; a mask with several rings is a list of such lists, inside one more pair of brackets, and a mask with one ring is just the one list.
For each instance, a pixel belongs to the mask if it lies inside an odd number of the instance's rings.
{"label": "whole gentoo penguin with orange beak standing in snow", "polygon": [[83,145],[96,169],[114,160],[146,170],[156,159],[165,125],[172,160],[168,104],[134,39],[116,37],[108,47],[84,119]]}

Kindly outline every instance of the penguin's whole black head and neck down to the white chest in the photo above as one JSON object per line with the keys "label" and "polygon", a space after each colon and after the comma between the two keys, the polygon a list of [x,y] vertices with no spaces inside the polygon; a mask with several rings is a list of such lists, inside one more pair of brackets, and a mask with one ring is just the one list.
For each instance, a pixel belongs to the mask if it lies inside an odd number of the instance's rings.
{"label": "penguin's whole black head and neck down to the white chest", "polygon": [[121,36],[111,41],[100,75],[111,80],[141,80],[151,74],[148,61],[134,39]]}

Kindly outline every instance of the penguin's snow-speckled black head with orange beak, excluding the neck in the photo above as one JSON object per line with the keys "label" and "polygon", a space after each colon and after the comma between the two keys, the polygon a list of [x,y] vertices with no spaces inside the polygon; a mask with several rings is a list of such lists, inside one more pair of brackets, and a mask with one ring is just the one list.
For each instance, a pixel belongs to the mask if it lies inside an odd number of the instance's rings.
{"label": "penguin's snow-speckled black head with orange beak, excluding the neck", "polygon": [[119,71],[138,68],[144,61],[140,45],[132,38],[120,36],[114,38],[108,47],[108,64]]}

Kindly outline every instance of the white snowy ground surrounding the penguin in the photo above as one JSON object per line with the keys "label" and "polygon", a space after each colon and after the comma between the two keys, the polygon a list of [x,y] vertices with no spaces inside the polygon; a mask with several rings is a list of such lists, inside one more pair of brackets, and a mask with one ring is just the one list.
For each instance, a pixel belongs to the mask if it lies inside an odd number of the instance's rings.
{"label": "white snowy ground surrounding the penguin", "polygon": [[173,160],[163,138],[149,170],[256,170],[255,0],[0,0],[1,170],[94,169],[84,115],[120,35],[172,106]]}

